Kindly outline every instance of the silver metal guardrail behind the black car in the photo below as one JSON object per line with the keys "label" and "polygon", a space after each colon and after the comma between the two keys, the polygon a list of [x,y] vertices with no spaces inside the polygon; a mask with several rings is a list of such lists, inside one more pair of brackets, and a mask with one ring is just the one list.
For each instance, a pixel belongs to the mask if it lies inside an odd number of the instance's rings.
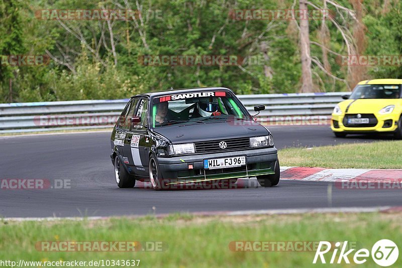
{"label": "silver metal guardrail behind the black car", "polygon": [[[239,95],[250,114],[264,104],[258,117],[329,116],[347,93]],[[0,133],[96,129],[113,126],[129,99],[0,104]],[[279,119],[278,119],[279,118]]]}

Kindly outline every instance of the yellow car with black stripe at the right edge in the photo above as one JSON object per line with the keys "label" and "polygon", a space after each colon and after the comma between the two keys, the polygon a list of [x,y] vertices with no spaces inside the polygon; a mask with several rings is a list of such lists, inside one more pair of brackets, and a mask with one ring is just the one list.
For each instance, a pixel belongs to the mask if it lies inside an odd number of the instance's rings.
{"label": "yellow car with black stripe at the right edge", "polygon": [[346,134],[392,132],[402,139],[402,79],[359,82],[351,95],[342,96],[332,112],[331,129],[336,137]]}

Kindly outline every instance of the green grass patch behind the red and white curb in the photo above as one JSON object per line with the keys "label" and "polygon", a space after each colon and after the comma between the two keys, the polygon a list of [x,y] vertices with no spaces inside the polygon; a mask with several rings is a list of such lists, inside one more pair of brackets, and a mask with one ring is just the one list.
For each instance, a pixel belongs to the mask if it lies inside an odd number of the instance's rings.
{"label": "green grass patch behind the red and white curb", "polygon": [[340,144],[279,150],[282,166],[328,168],[402,168],[402,141]]}

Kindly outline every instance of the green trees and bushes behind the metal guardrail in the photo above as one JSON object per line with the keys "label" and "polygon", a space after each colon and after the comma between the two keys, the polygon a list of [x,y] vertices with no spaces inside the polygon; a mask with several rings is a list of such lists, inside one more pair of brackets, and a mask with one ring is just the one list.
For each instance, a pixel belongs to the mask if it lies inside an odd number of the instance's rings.
{"label": "green trees and bushes behind the metal guardrail", "polygon": [[[122,0],[31,0],[29,4],[22,0],[0,0],[0,54],[46,55],[49,51],[59,59],[52,59],[46,66],[0,65],[0,102],[9,102],[10,78],[13,101],[18,102],[118,99],[170,87],[198,86],[226,86],[238,94],[298,92],[301,65],[295,22],[231,17],[233,10],[291,9],[292,1],[141,1],[143,23],[138,18],[138,26],[133,20],[111,22],[116,58],[107,21],[35,17],[35,11],[42,9],[137,9],[135,2],[128,3],[130,7]],[[322,6],[319,0],[311,3]],[[337,3],[353,9],[347,0]],[[363,15],[367,40],[364,53],[401,54],[402,4],[392,6],[388,13],[379,11],[381,5],[371,0],[364,6],[367,10]],[[330,5],[329,8],[335,10]],[[335,20],[343,29],[353,32],[353,20],[339,16]],[[313,42],[322,41],[321,23],[321,20],[310,21]],[[330,21],[326,24],[328,49],[345,55],[338,28]],[[322,61],[321,47],[312,44],[311,53]],[[144,55],[235,55],[244,61],[241,66],[146,66],[141,62]],[[348,79],[347,67],[340,64],[338,56],[328,53],[328,61],[333,75]],[[335,81],[314,63],[312,70],[316,90],[346,90],[344,82]],[[402,69],[376,66],[368,68],[367,75],[402,77]]]}

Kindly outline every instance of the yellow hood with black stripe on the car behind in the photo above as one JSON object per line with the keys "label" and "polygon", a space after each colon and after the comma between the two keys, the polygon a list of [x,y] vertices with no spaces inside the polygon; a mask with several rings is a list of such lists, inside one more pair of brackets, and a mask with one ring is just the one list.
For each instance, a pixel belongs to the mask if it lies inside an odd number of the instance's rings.
{"label": "yellow hood with black stripe on the car behind", "polygon": [[[388,105],[396,105],[399,99],[357,99],[339,103],[342,112],[348,114],[376,114]],[[349,107],[349,108],[348,108]]]}

